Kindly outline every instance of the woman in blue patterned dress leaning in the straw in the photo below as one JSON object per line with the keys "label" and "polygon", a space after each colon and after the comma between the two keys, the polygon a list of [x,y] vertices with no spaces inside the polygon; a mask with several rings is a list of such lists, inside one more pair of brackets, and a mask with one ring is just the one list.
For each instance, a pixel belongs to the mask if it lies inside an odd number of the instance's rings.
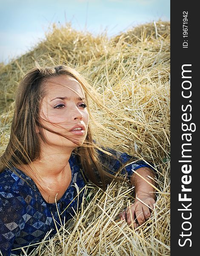
{"label": "woman in blue patterned dress leaning in the straw", "polygon": [[[51,229],[56,233],[55,223],[59,228],[80,207],[86,182],[105,189],[117,172],[119,179],[127,174],[139,198],[120,219],[130,224],[132,217],[136,226],[150,217],[155,202],[151,166],[134,161],[124,167],[131,156],[94,142],[88,94],[92,97],[89,84],[68,66],[37,66],[20,82],[10,140],[0,159],[3,255],[19,255],[17,248],[41,241]],[[142,178],[148,175],[149,183]]]}

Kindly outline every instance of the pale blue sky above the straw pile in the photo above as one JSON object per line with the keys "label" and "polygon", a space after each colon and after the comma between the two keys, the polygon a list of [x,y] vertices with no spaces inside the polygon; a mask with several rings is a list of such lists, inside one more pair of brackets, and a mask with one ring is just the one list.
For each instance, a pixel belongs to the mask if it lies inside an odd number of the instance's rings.
{"label": "pale blue sky above the straw pile", "polygon": [[0,62],[29,51],[52,23],[109,36],[170,20],[170,0],[0,0]]}

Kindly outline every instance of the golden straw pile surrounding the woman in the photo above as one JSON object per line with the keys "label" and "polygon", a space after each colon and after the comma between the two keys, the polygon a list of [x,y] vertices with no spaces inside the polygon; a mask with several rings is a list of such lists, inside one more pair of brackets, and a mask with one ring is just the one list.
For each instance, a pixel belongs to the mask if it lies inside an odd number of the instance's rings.
{"label": "golden straw pile surrounding the woman", "polygon": [[88,184],[80,212],[30,255],[170,255],[169,44],[170,24],[160,20],[111,39],[106,34],[94,37],[78,32],[66,24],[53,26],[33,50],[1,64],[0,154],[9,140],[15,88],[38,56],[46,55],[60,64],[70,63],[112,110],[108,115],[91,101],[94,116],[108,129],[105,134],[99,127],[99,143],[153,159],[159,174],[156,205],[142,226],[134,229],[118,218],[127,202],[133,203],[134,189],[111,183],[103,192]]}

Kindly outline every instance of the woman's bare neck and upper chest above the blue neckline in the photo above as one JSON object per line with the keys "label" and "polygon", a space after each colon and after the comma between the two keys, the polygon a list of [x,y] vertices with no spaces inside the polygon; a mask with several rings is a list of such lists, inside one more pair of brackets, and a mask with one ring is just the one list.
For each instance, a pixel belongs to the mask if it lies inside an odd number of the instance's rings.
{"label": "woman's bare neck and upper chest above the blue neckline", "polygon": [[[59,200],[71,182],[69,158],[74,148],[47,147],[42,150],[40,159],[30,165],[20,166],[20,169],[34,180],[43,198],[54,203]],[[45,153],[45,154],[44,154]]]}

